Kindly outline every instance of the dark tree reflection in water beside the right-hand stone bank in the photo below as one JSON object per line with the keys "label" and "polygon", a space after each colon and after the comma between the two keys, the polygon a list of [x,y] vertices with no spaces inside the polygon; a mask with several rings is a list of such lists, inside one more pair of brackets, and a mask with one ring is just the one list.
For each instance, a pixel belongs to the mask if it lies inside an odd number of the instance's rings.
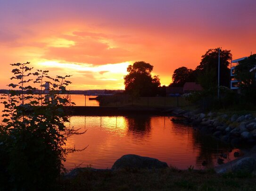
{"label": "dark tree reflection in water beside the right-hand stone bank", "polygon": [[202,135],[200,132],[194,131],[193,141],[194,148],[198,150],[198,165],[201,165],[203,161],[206,161],[208,167],[215,166],[217,164],[217,158],[220,157],[221,153],[227,154],[227,157],[229,158],[229,150],[231,149],[231,146],[216,140],[209,135]]}

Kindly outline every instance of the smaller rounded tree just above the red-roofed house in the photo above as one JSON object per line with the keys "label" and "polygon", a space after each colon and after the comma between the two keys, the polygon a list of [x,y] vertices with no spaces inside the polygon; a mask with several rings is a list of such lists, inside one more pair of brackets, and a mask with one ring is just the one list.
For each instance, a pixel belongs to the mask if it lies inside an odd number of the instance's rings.
{"label": "smaller rounded tree just above the red-roofed house", "polygon": [[186,82],[194,82],[195,81],[195,77],[193,75],[193,70],[192,69],[188,69],[187,67],[180,67],[178,69],[175,69],[173,72],[173,83],[170,84],[170,86],[172,87],[183,87],[183,85]]}

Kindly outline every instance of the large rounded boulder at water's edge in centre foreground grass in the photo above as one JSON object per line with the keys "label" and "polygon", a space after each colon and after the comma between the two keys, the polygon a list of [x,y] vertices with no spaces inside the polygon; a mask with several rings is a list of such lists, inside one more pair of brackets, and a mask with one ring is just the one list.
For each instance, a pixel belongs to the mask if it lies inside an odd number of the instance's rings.
{"label": "large rounded boulder at water's edge in centre foreground grass", "polygon": [[126,154],[116,160],[111,169],[117,170],[122,168],[167,168],[166,162],[161,162],[155,158],[142,157],[135,154]]}

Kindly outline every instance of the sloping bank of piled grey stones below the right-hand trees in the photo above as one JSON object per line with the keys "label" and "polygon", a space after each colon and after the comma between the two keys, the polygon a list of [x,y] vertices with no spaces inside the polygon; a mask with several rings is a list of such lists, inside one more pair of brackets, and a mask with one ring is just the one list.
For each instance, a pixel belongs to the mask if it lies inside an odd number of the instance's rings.
{"label": "sloping bank of piled grey stones below the right-hand trees", "polygon": [[251,114],[198,113],[182,109],[173,110],[173,114],[184,117],[182,121],[234,147],[256,144],[256,118]]}

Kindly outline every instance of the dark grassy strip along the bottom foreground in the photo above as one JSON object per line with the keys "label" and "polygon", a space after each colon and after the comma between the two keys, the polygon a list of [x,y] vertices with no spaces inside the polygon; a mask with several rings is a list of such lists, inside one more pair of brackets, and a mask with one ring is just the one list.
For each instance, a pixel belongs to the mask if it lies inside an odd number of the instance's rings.
{"label": "dark grassy strip along the bottom foreground", "polygon": [[217,175],[211,170],[86,170],[61,180],[63,191],[256,191],[252,174]]}

